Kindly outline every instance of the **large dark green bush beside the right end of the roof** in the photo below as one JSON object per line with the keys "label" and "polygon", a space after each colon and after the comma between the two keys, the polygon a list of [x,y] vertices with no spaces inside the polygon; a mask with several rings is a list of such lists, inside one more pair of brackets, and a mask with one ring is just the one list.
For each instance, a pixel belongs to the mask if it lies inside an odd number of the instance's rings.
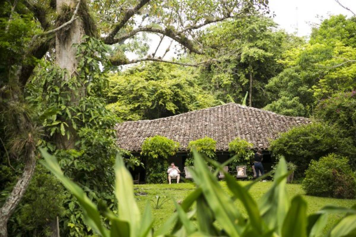
{"label": "large dark green bush beside the right end of the roof", "polygon": [[[342,138],[334,127],[310,123],[282,133],[271,142],[271,151],[274,156],[284,156],[296,164],[295,176],[298,178],[304,175],[311,160],[319,160],[330,153],[354,157],[356,147],[351,139]],[[350,160],[350,165],[356,167],[355,158]]]}

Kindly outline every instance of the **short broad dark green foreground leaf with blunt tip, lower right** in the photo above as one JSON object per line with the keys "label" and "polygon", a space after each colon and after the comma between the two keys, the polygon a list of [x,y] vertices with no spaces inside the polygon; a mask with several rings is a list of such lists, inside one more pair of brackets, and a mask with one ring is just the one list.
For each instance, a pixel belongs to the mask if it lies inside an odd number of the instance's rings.
{"label": "short broad dark green foreground leaf with blunt tip, lower right", "polygon": [[307,236],[307,202],[297,195],[292,199],[282,226],[282,237]]}

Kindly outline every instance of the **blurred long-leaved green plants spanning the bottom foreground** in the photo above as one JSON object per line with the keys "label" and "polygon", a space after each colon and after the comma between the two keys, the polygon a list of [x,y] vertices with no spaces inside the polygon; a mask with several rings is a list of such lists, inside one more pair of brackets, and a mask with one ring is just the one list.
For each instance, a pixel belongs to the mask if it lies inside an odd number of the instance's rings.
{"label": "blurred long-leaved green plants spanning the bottom foreground", "polygon": [[[292,200],[287,198],[287,165],[282,158],[276,169],[272,187],[257,201],[248,190],[258,181],[246,186],[225,173],[229,193],[221,187],[201,158],[194,153],[195,169],[192,171],[197,189],[185,198],[181,205],[174,204],[177,211],[157,230],[152,228],[150,204],[147,203],[141,216],[135,197],[130,173],[122,158],[116,158],[115,195],[118,212],[114,214],[105,206],[96,205],[80,187],[63,175],[56,158],[42,150],[45,161],[41,163],[68,188],[78,199],[88,225],[103,237],[144,237],[144,236],[266,236],[266,237],[315,237],[325,228],[329,213],[344,213],[345,217],[335,223],[325,236],[352,236],[356,231],[356,205],[352,208],[325,206],[318,212],[307,215],[307,203],[301,195]],[[223,170],[222,165],[212,163]],[[260,177],[261,179],[263,177]],[[232,194],[232,196],[231,196]],[[236,208],[234,200],[239,199],[247,212],[245,218]],[[196,205],[193,205],[196,204]],[[101,216],[110,220],[109,228]],[[192,218],[197,220],[196,225]],[[173,228],[172,228],[173,227]]]}

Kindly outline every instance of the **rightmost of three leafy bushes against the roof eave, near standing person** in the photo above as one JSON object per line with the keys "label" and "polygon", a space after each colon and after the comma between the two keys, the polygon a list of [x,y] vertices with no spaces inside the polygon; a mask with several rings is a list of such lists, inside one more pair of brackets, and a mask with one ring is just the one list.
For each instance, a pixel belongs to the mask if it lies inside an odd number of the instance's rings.
{"label": "rightmost of three leafy bushes against the roof eave, near standing person", "polygon": [[230,163],[232,170],[238,165],[246,165],[246,163],[250,163],[250,160],[253,157],[252,147],[252,143],[240,138],[235,138],[229,143],[231,156],[235,156],[235,159]]}

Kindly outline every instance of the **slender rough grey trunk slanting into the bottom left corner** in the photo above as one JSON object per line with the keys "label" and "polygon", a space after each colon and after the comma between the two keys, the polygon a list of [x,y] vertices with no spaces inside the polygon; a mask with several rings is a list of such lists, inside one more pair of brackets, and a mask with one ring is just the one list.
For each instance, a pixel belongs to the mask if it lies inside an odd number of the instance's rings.
{"label": "slender rough grey trunk slanting into the bottom left corner", "polygon": [[7,197],[4,205],[0,210],[0,237],[7,237],[7,221],[12,213],[14,213],[17,204],[19,204],[23,194],[25,193],[28,184],[32,178],[32,174],[36,167],[35,146],[31,145],[28,148],[28,157],[25,163],[25,168],[19,181],[17,181],[11,194]]}

